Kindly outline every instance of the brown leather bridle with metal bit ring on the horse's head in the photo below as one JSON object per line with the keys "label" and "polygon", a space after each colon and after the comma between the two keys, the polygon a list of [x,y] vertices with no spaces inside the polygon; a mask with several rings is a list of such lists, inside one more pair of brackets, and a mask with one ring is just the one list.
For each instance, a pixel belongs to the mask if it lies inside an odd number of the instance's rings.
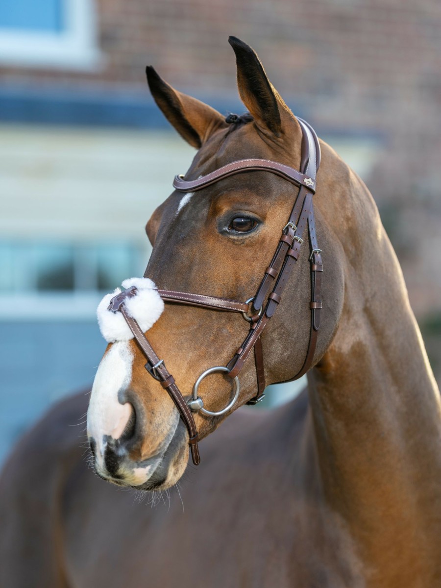
{"label": "brown leather bridle with metal bit ring on the horse's head", "polygon": [[[217,298],[216,296],[158,289],[158,293],[164,302],[177,302],[200,306],[202,308],[242,313],[243,317],[249,322],[250,329],[245,340],[243,340],[238,350],[236,350],[234,357],[229,361],[226,367],[216,366],[201,373],[193,386],[192,396],[186,401],[176,385],[174,377],[165,367],[164,361],[159,359],[156,355],[145,334],[139,327],[138,322],[129,316],[125,308],[125,300],[132,296],[136,296],[136,287],[131,286],[130,288],[123,290],[112,298],[109,305],[109,310],[112,310],[112,312],[122,313],[122,316],[128,323],[133,336],[147,358],[147,363],[145,365],[146,370],[152,377],[161,383],[161,386],[165,390],[167,390],[178,408],[179,414],[188,429],[189,445],[191,447],[192,459],[195,465],[198,465],[201,462],[201,458],[199,456],[198,431],[196,430],[195,420],[193,419],[192,413],[200,411],[204,415],[219,416],[228,412],[228,410],[233,407],[240,392],[238,374],[243,368],[243,364],[252,349],[254,350],[256,363],[257,393],[248,400],[247,404],[254,405],[260,402],[265,396],[265,369],[263,365],[261,335],[263,329],[265,329],[268,324],[269,319],[275,313],[280,300],[282,300],[283,290],[285,290],[293,267],[299,259],[300,246],[303,243],[303,232],[306,228],[306,224],[308,224],[310,242],[309,262],[311,272],[311,302],[309,306],[311,310],[311,325],[308,351],[306,352],[305,361],[303,362],[300,371],[292,378],[292,380],[296,380],[303,376],[312,365],[318,331],[320,328],[320,313],[322,309],[320,295],[321,276],[323,272],[322,251],[318,247],[314,209],[312,205],[312,196],[315,193],[316,188],[316,173],[320,165],[320,145],[318,136],[309,123],[300,118],[297,120],[302,129],[301,171],[290,168],[282,163],[269,161],[268,159],[240,159],[239,161],[228,163],[227,165],[224,165],[196,180],[185,180],[184,176],[179,175],[176,176],[173,181],[173,188],[177,191],[195,192],[236,173],[263,170],[275,173],[300,187],[288,222],[282,229],[282,235],[280,236],[276,252],[273,255],[268,268],[265,269],[265,276],[263,276],[262,282],[260,282],[260,286],[252,298],[249,298],[246,302],[239,302],[238,300]],[[268,294],[269,290],[272,291]],[[263,302],[265,299],[266,305],[265,309],[263,309]],[[254,313],[249,316],[248,313],[252,312],[252,310],[254,310]],[[235,384],[235,392],[232,400],[230,400],[225,408],[218,412],[207,410],[203,405],[202,398],[198,396],[200,383],[206,376],[214,372],[225,372],[233,379]]]}

